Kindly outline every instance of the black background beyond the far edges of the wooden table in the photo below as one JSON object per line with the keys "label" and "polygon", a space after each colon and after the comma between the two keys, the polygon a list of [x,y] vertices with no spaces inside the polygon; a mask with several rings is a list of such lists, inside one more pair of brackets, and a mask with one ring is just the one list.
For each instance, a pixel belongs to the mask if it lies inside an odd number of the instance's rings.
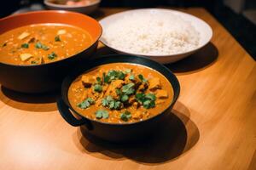
{"label": "black background beyond the far edges of the wooden table", "polygon": [[[236,0],[233,0],[236,1]],[[256,8],[256,0],[246,0],[243,8]],[[43,3],[43,0],[8,0],[0,6],[0,17],[31,3]],[[102,0],[102,7],[155,8],[166,7],[203,7],[206,8],[238,42],[256,59],[256,26],[241,13],[224,5],[224,0]]]}

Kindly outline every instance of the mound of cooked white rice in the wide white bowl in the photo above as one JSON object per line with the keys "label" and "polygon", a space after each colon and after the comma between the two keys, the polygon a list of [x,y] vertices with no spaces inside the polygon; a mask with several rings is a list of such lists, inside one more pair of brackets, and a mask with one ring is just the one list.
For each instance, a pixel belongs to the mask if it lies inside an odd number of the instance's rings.
{"label": "mound of cooked white rice in the wide white bowl", "polygon": [[177,54],[195,49],[200,35],[175,14],[131,14],[104,28],[113,48],[136,54]]}

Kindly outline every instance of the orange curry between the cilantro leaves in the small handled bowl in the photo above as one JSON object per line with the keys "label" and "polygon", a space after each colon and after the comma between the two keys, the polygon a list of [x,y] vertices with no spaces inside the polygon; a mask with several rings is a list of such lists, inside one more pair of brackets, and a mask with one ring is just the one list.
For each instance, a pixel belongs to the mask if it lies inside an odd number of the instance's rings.
{"label": "orange curry between the cilantro leaves in the small handled bowl", "polygon": [[[151,80],[158,79],[160,80],[160,88],[150,90],[149,88],[144,90],[144,94],[154,94],[156,95],[155,99],[155,106],[153,108],[146,109],[143,107],[143,105],[139,105],[139,103],[135,100],[134,103],[131,103],[131,105],[126,105],[123,108],[114,110],[109,109],[106,106],[102,105],[102,99],[106,99],[106,97],[109,95],[109,92],[111,94],[110,88],[113,88],[111,86],[114,85],[115,82],[118,80],[113,80],[111,83],[102,86],[102,93],[95,92],[92,88],[85,88],[83,83],[83,77],[90,77],[92,82],[96,82],[96,77],[102,77],[103,73],[108,73],[108,71],[123,71],[131,70],[131,73],[125,74],[124,83],[125,85],[129,84],[131,81],[129,81],[128,77],[131,77],[131,75],[138,75],[141,74],[145,79],[148,80],[148,87],[150,87]],[[116,83],[115,83],[116,84]],[[92,83],[93,85],[93,83]],[[114,87],[117,89],[117,87]],[[119,89],[122,89],[119,87]],[[158,97],[157,93],[160,91],[165,91],[166,96],[164,98]],[[135,94],[139,93],[138,90],[135,92]],[[113,92],[112,92],[113,94]],[[135,94],[130,95],[129,102],[131,98],[134,98]],[[79,107],[79,104],[84,101],[84,99],[91,98],[95,100],[94,105],[90,105],[88,108],[81,109]],[[166,77],[160,74],[158,71],[154,71],[153,69],[150,69],[143,65],[133,65],[128,63],[114,63],[114,64],[108,64],[108,65],[100,65],[96,68],[91,69],[90,71],[85,72],[83,75],[76,78],[74,82],[72,82],[69,90],[68,90],[68,100],[70,104],[72,105],[73,109],[79,114],[86,116],[93,120],[98,120],[101,122],[109,122],[109,123],[125,123],[125,122],[139,122],[143,121],[145,119],[148,119],[151,116],[156,116],[160,114],[162,111],[165,111],[166,108],[171,105],[173,99],[173,89],[172,85]],[[137,105],[134,105],[136,104]],[[96,117],[96,111],[108,111],[108,118]],[[120,118],[121,114],[125,111],[129,111],[131,113],[131,116],[127,120],[122,120]],[[138,115],[139,114],[139,115]]]}

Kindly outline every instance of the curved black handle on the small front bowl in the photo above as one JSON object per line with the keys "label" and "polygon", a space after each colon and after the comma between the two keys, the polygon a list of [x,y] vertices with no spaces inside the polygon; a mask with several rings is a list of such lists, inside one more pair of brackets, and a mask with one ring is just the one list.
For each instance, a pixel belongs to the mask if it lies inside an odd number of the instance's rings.
{"label": "curved black handle on the small front bowl", "polygon": [[61,113],[61,116],[73,127],[85,125],[88,130],[92,130],[91,123],[84,117],[82,117],[81,119],[77,119],[75,116],[73,116],[72,112],[69,111],[69,107],[64,103],[63,99],[57,100],[57,107],[59,112]]}

